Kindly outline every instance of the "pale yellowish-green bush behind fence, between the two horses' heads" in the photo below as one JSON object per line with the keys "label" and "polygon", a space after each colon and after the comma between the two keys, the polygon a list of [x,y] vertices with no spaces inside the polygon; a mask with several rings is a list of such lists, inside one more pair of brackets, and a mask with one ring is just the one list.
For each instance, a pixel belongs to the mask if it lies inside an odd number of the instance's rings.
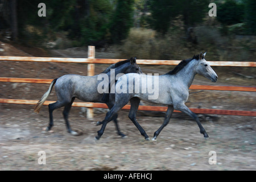
{"label": "pale yellowish-green bush behind fence, between the two horses' heads", "polygon": [[[129,36],[120,47],[120,58],[129,57],[131,53],[138,59],[181,59],[184,52],[189,52],[184,42],[180,40],[184,31],[182,28],[167,32],[159,37],[154,30],[146,28],[131,28]],[[185,57],[184,57],[185,58]]]}

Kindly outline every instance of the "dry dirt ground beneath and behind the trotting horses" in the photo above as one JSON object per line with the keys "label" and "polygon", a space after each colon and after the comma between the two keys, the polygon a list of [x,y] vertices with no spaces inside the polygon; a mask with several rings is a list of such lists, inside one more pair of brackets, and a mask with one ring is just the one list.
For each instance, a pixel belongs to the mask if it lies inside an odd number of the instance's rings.
{"label": "dry dirt ground beneath and behind the trotting horses", "polygon": [[[0,42],[4,56],[68,56],[86,57],[86,50],[71,48],[50,52],[30,49],[24,52]],[[133,56],[133,55],[131,55]],[[96,57],[114,58],[113,52],[96,53]],[[96,65],[96,73],[107,65]],[[56,78],[68,73],[86,75],[86,65],[67,63],[26,63],[0,61],[1,77]],[[145,73],[166,73],[170,67],[141,66]],[[193,84],[255,86],[254,78],[241,77],[233,72],[249,75],[246,70],[233,68],[218,74],[216,83],[196,76]],[[254,68],[250,68],[254,69]],[[255,72],[254,72],[255,73]],[[48,89],[47,84],[0,82],[0,98],[39,100]],[[191,90],[196,92],[198,90]],[[189,107],[209,109],[256,110],[255,93],[207,91],[189,96]],[[48,100],[56,100],[54,89]],[[78,101],[78,100],[76,100]],[[48,125],[48,109],[43,106],[39,114],[32,105],[0,104],[0,169],[1,170],[255,170],[256,117],[230,115],[200,115],[209,135],[204,139],[196,122],[184,114],[174,113],[169,125],[156,141],[145,141],[130,121],[127,110],[119,112],[119,125],[126,139],[120,138],[113,122],[104,135],[94,137],[106,110],[94,109],[95,117],[86,119],[86,109],[72,107],[69,121],[73,130],[81,135],[67,133],[62,109],[53,113],[52,132],[43,131]],[[139,112],[139,123],[152,138],[163,122],[162,113]],[[46,164],[39,164],[39,151],[46,154]],[[216,153],[216,164],[209,164],[210,151]],[[39,155],[38,155],[39,154]],[[212,161],[212,160],[210,160]],[[40,162],[40,161],[39,161]]]}

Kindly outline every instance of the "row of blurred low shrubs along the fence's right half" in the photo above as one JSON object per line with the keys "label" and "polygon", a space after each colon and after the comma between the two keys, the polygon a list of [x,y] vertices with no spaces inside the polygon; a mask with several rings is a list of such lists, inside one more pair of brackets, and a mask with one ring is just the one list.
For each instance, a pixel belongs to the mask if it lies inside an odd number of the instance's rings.
{"label": "row of blurred low shrubs along the fence's right half", "polygon": [[182,60],[195,53],[207,51],[207,60],[245,61],[254,60],[256,39],[253,36],[222,36],[218,27],[197,26],[194,28],[198,44],[185,39],[184,28],[177,27],[164,36],[145,28],[131,28],[128,38],[120,49],[120,59],[137,56],[138,59]]}

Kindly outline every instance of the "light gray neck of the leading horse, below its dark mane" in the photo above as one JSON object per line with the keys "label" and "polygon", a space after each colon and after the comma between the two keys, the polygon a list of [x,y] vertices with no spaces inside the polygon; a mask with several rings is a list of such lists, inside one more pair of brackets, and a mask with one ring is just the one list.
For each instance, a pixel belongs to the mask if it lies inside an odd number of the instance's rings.
{"label": "light gray neck of the leading horse, below its dark mane", "polygon": [[196,76],[196,61],[190,61],[183,69],[176,73],[176,77],[181,79],[184,82],[184,85],[187,85],[188,88],[191,86],[195,76]]}

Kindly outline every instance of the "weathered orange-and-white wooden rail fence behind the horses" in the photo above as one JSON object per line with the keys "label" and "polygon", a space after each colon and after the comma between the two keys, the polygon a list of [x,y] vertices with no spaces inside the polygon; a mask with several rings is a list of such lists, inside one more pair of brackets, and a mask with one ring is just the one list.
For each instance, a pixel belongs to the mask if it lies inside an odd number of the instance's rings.
{"label": "weathered orange-and-white wooden rail fence behind the horses", "polygon": [[[20,56],[0,56],[0,61],[37,61],[37,62],[55,62],[55,63],[88,63],[88,76],[94,75],[95,63],[113,64],[122,59],[96,59],[94,46],[88,47],[88,58],[63,58],[63,57],[20,57]],[[208,61],[211,66],[221,67],[256,67],[256,62],[246,61]],[[138,64],[154,64],[154,65],[177,65],[180,60],[137,60]],[[50,84],[51,79],[37,79],[37,78],[10,78],[0,77],[1,82],[28,82],[38,84]],[[189,89],[197,90],[229,90],[229,91],[244,91],[255,92],[256,87],[251,86],[220,86],[220,85],[191,85]],[[0,98],[0,103],[6,104],[30,104],[35,105],[36,100],[17,100]],[[46,101],[44,105],[48,105],[55,101]],[[87,117],[93,118],[93,107],[108,108],[106,104],[93,102],[74,102],[72,106],[88,107]],[[130,109],[130,105],[126,105],[123,109]],[[242,110],[219,110],[219,109],[192,109],[194,113],[201,114],[221,114],[221,115],[244,115],[256,116],[256,111],[242,111]],[[151,111],[166,111],[164,106],[139,106],[139,110]],[[175,112],[180,112],[175,110]]]}

